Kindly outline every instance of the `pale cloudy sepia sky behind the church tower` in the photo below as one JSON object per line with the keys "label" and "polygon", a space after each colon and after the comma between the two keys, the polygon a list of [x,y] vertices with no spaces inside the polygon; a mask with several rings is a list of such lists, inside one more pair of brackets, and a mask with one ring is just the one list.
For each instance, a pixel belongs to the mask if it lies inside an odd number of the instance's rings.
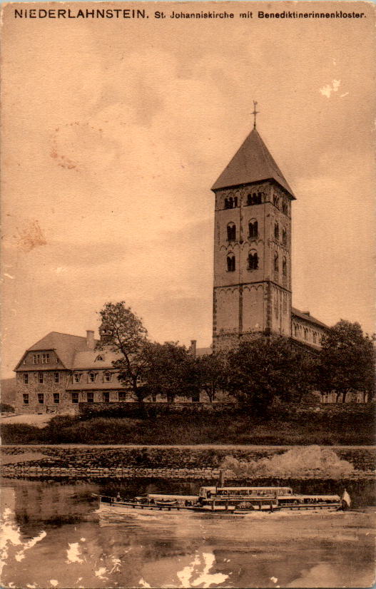
{"label": "pale cloudy sepia sky behind the church tower", "polygon": [[253,100],[297,198],[293,305],[375,331],[373,7],[238,18],[324,5],[221,2],[209,8],[236,18],[210,21],[170,19],[183,5],[166,2],[166,19],[156,3],[145,20],[4,8],[3,377],[45,334],[97,330],[108,301],[125,300],[153,340],[210,345],[210,187],[252,129]]}

